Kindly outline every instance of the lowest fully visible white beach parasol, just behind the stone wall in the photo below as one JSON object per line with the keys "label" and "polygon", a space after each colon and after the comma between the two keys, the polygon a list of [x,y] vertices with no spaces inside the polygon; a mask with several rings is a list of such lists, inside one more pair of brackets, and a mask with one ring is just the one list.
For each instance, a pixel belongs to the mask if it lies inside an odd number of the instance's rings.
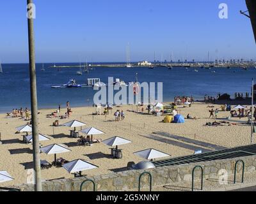
{"label": "lowest fully visible white beach parasol, just behind the stone wall", "polygon": [[82,159],[76,159],[74,161],[70,161],[67,164],[63,164],[62,166],[68,173],[77,173],[79,172],[79,176],[82,176],[82,171],[84,170],[92,170],[93,168],[98,168],[99,166],[95,166],[87,161]]}

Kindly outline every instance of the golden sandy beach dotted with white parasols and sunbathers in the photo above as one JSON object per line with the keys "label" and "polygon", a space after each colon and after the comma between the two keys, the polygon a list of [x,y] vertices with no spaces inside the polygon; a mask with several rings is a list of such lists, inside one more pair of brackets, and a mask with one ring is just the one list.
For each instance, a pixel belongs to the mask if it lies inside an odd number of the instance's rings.
{"label": "golden sandy beach dotted with white parasols and sunbathers", "polygon": [[[220,105],[214,105],[214,108],[220,108]],[[144,107],[145,109],[146,107]],[[114,112],[116,109],[124,110],[125,120],[115,122]],[[192,138],[203,142],[221,145],[224,147],[236,147],[241,145],[248,145],[250,143],[250,126],[244,124],[247,117],[243,119],[232,118],[230,112],[219,112],[217,121],[227,120],[228,122],[236,123],[231,126],[204,126],[206,122],[214,122],[215,119],[209,119],[209,110],[207,105],[203,103],[195,103],[190,108],[178,106],[179,113],[184,117],[189,113],[192,117],[198,117],[197,120],[186,119],[184,124],[164,124],[161,120],[164,116],[156,117],[153,115],[142,115],[127,110],[136,110],[136,106],[122,106],[114,107],[113,111],[107,117],[104,115],[92,115],[95,108],[72,108],[72,115],[69,119],[59,119],[60,124],[70,120],[81,120],[87,125],[83,128],[94,127],[104,131],[106,134],[95,136],[105,140],[112,136],[121,136],[132,143],[120,146],[123,150],[122,159],[112,159],[109,154],[109,147],[104,143],[94,143],[92,146],[79,146],[77,138],[70,138],[69,130],[72,128],[55,127],[52,128],[52,122],[56,118],[47,118],[48,113],[54,112],[56,109],[40,110],[39,118],[39,131],[42,134],[49,135],[51,140],[42,143],[43,147],[53,143],[67,145],[68,149],[72,152],[58,154],[57,157],[63,157],[68,161],[74,159],[84,159],[92,164],[99,166],[95,170],[84,171],[84,175],[102,175],[111,173],[127,166],[129,161],[134,163],[140,162],[142,159],[135,156],[133,153],[138,150],[154,148],[161,150],[172,157],[185,156],[193,154],[193,150],[178,147],[164,142],[152,140],[145,136],[152,134],[156,131],[170,133],[172,135],[183,136]],[[102,110],[103,111],[103,110]],[[145,110],[146,112],[146,110]],[[61,114],[65,114],[65,109],[61,110]],[[32,145],[22,142],[22,133],[15,134],[15,127],[26,124],[27,121],[20,118],[6,118],[6,114],[0,114],[0,170],[6,170],[12,175],[15,180],[12,182],[4,182],[1,186],[11,186],[16,184],[24,184],[27,182],[27,173],[29,168],[33,168],[33,154],[31,152]],[[54,132],[54,133],[53,133]],[[84,135],[85,136],[85,135]],[[164,137],[163,137],[164,138]],[[200,147],[198,147],[200,149]],[[47,160],[50,163],[53,161],[53,155],[40,154],[42,160]],[[64,168],[49,168],[42,170],[42,179],[51,180],[59,178],[70,178],[74,175],[69,174]]]}

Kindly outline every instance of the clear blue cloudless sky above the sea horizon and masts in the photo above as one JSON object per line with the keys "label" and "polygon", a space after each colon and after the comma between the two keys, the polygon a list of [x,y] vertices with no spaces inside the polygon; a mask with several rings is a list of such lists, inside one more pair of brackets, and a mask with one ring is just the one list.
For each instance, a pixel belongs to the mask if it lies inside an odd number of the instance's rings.
{"label": "clear blue cloudless sky above the sea horizon and masts", "polygon": [[[256,59],[244,0],[34,0],[37,62]],[[228,4],[228,19],[218,17]],[[26,1],[0,3],[0,59],[28,62]],[[161,57],[162,56],[162,57]]]}

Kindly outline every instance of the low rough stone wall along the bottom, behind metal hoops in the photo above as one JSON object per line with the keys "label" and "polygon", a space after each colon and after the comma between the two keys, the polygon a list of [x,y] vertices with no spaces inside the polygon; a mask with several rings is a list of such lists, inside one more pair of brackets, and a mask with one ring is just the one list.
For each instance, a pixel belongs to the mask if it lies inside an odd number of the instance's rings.
{"label": "low rough stone wall along the bottom, behind metal hoops", "polygon": [[[226,159],[209,161],[204,163],[181,164],[178,166],[163,166],[148,170],[152,174],[152,186],[163,186],[177,182],[190,182],[191,172],[196,165],[204,168],[204,179],[218,178],[220,170],[227,170],[229,175],[234,175],[235,163],[242,159],[245,164],[245,172],[253,172],[256,168],[256,156],[239,157],[236,159]],[[237,165],[237,172],[241,173],[242,165]],[[88,177],[96,183],[97,191],[138,191],[138,183],[140,174],[143,170],[130,170],[119,173],[109,173],[108,175],[99,175]],[[86,178],[60,179],[43,182],[43,191],[79,191],[81,183]],[[195,171],[195,179],[200,179],[200,170]],[[21,191],[34,191],[33,185],[15,186]],[[148,176],[141,177],[141,188],[148,189]],[[83,185],[83,191],[92,191],[92,183],[87,182]]]}

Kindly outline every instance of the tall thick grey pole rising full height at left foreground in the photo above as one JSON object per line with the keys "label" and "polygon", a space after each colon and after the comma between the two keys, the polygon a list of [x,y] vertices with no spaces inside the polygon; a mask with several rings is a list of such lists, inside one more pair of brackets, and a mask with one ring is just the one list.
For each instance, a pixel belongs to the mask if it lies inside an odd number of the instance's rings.
{"label": "tall thick grey pole rising full height at left foreground", "polygon": [[30,94],[31,94],[31,117],[33,135],[33,162],[35,191],[42,191],[40,147],[38,137],[38,108],[36,96],[36,65],[35,65],[35,40],[33,25],[33,0],[27,0],[28,6],[28,41],[29,41],[29,73],[30,73]]}

